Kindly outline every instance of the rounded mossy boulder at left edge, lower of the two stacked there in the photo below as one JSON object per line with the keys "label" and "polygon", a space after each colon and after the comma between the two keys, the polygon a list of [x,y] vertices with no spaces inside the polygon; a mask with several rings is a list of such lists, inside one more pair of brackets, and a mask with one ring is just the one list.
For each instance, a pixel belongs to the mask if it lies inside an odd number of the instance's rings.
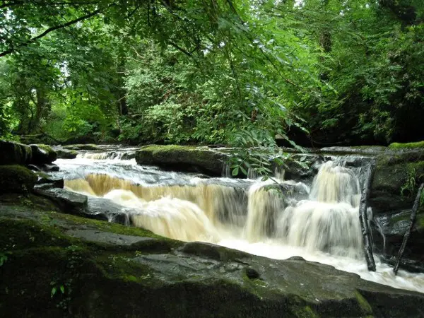
{"label": "rounded mossy boulder at left edge, lower of the two stacked there", "polygon": [[0,165],[0,193],[30,192],[37,175],[20,165]]}

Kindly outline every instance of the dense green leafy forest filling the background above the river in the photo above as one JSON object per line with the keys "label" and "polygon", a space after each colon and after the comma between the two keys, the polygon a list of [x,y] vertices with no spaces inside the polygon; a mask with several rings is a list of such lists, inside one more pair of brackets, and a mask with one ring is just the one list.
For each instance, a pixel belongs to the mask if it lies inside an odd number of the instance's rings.
{"label": "dense green leafy forest filling the background above the river", "polygon": [[6,139],[418,141],[424,1],[0,1],[0,74]]}

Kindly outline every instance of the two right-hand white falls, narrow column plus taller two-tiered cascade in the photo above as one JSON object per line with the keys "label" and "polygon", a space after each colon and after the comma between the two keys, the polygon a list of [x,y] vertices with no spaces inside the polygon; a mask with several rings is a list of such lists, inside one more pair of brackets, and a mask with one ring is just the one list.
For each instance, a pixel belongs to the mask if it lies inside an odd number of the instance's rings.
{"label": "two right-hand white falls, narrow column plus taller two-tiered cascade", "polygon": [[245,226],[249,242],[278,237],[286,245],[310,251],[360,257],[360,184],[351,170],[333,161],[324,163],[309,198],[300,201],[289,200],[289,192],[276,190],[281,188],[267,189],[269,184],[257,183],[249,189]]}

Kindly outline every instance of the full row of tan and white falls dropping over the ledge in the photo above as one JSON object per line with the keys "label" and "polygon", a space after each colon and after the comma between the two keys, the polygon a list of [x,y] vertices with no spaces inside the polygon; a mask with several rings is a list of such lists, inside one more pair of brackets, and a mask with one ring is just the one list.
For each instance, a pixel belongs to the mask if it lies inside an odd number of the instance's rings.
{"label": "full row of tan and white falls dropping over the ledge", "polygon": [[[274,237],[310,250],[360,254],[360,185],[351,170],[333,161],[324,163],[310,191],[301,182],[282,178],[283,172],[276,171],[272,180],[237,189],[207,182],[142,185],[131,179],[89,174],[84,179],[66,180],[65,186],[131,206],[135,225],[179,240],[206,237],[205,229],[213,232],[213,226],[242,232],[249,242]],[[182,220],[187,222],[185,226]],[[199,228],[200,220],[204,228]],[[187,235],[177,235],[172,229],[183,229]]]}

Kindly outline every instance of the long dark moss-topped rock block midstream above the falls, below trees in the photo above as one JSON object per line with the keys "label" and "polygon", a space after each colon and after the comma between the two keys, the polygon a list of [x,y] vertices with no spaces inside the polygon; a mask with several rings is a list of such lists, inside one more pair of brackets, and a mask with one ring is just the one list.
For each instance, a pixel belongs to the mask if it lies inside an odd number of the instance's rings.
{"label": "long dark moss-topped rock block midstream above the falls, below trees", "polygon": [[220,176],[228,155],[208,147],[143,146],[136,151],[139,165],[158,165],[168,170],[204,172]]}

